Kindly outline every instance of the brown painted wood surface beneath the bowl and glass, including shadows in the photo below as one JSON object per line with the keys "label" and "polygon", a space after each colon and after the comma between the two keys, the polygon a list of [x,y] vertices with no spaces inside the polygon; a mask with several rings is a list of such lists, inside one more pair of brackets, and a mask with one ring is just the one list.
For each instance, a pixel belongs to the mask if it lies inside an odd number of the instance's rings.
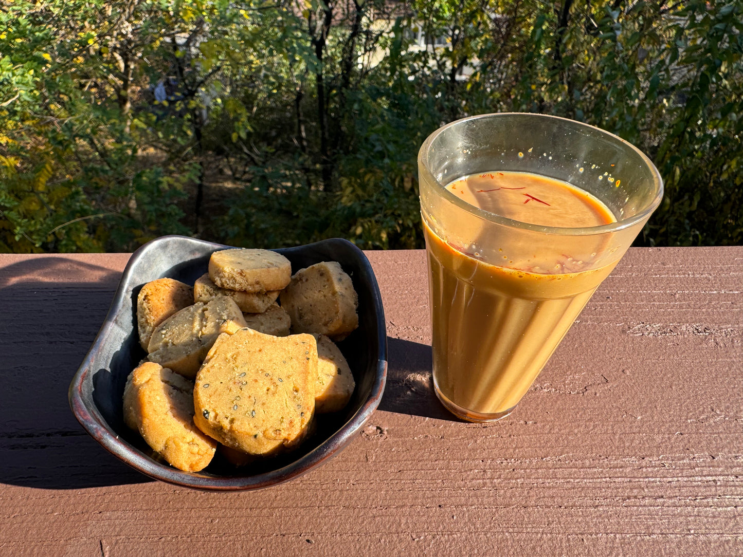
{"label": "brown painted wood surface beneath the bowl and glass, including shadows", "polygon": [[424,253],[368,255],[380,409],[324,466],[242,493],[150,481],[71,414],[129,255],[0,255],[0,555],[743,554],[743,247],[630,250],[487,426],[432,393]]}

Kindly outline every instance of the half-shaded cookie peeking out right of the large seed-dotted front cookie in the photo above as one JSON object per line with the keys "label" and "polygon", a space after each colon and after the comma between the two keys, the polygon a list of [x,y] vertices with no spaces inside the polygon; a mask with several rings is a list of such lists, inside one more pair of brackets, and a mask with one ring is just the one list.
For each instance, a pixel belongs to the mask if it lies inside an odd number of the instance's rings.
{"label": "half-shaded cookie peeking out right of the large seed-dotted front cookie", "polygon": [[343,354],[325,335],[313,335],[317,340],[317,386],[315,387],[315,411],[328,414],[343,410],[356,382]]}

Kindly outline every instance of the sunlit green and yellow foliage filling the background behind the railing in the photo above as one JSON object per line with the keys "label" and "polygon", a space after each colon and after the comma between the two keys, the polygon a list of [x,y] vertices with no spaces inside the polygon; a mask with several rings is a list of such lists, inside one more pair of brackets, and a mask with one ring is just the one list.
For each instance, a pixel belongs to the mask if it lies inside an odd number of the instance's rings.
{"label": "sunlit green and yellow foliage filling the background behind the railing", "polygon": [[2,251],[421,247],[419,146],[493,111],[649,154],[638,243],[743,241],[743,0],[9,0],[0,30]]}

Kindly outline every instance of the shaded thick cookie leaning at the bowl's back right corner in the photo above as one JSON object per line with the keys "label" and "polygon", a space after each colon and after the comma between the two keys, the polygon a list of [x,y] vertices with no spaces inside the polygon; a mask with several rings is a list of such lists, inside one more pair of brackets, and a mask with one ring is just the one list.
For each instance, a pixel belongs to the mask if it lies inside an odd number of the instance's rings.
{"label": "shaded thick cookie leaning at the bowl's back right corner", "polygon": [[356,290],[337,261],[324,261],[297,271],[279,299],[291,317],[292,333],[319,333],[342,339],[359,326]]}

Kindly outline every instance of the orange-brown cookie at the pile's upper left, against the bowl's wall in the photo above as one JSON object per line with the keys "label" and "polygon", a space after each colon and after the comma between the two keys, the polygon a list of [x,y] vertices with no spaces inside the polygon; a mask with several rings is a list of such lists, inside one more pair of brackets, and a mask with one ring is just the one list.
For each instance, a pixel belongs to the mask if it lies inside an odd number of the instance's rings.
{"label": "orange-brown cookie at the pile's upper left, against the bowl's wall", "polygon": [[147,350],[152,331],[174,313],[193,303],[193,289],[174,278],[158,278],[142,287],[137,296],[140,345]]}

